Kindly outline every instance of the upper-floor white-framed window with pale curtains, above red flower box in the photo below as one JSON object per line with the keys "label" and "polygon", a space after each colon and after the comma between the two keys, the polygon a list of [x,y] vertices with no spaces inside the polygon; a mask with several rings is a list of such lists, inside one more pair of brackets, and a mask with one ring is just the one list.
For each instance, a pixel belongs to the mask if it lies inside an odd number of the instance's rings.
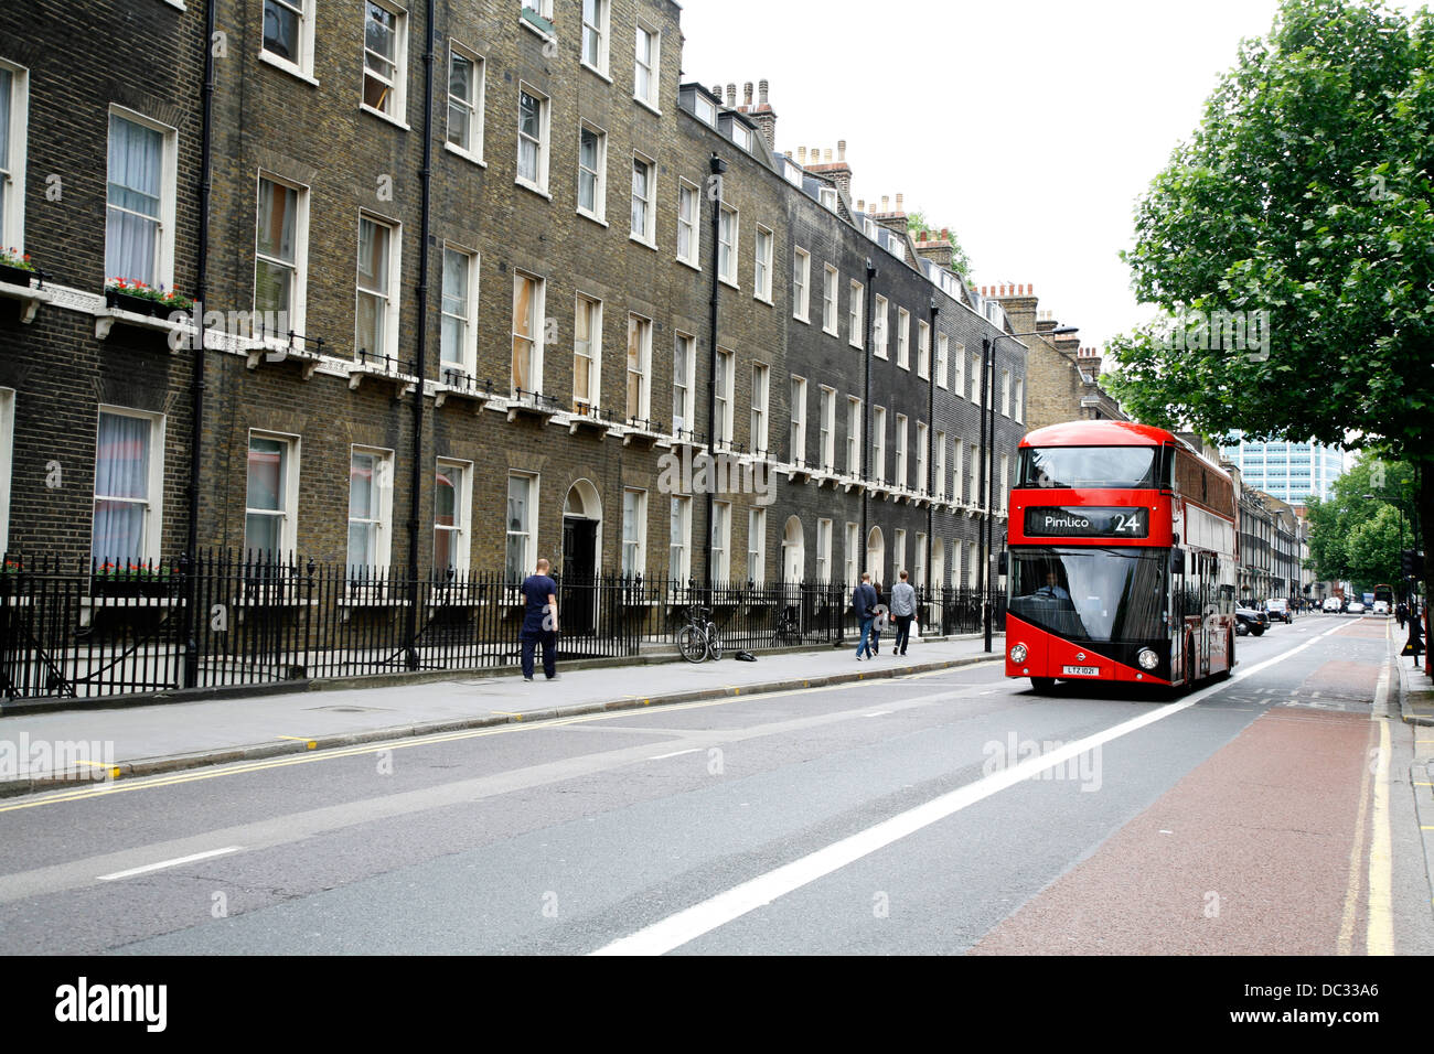
{"label": "upper-floor white-framed window with pale curtains, above red flower box", "polygon": [[105,277],[158,283],[163,135],[110,115]]}

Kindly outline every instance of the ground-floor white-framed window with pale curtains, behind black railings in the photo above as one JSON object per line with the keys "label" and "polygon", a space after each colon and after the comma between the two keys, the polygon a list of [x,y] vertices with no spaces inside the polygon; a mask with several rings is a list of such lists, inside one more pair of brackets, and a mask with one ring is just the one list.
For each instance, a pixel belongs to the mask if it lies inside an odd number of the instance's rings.
{"label": "ground-floor white-framed window with pale curtains, behind black railings", "polygon": [[99,416],[92,555],[100,564],[138,564],[145,556],[151,426],[148,417]]}

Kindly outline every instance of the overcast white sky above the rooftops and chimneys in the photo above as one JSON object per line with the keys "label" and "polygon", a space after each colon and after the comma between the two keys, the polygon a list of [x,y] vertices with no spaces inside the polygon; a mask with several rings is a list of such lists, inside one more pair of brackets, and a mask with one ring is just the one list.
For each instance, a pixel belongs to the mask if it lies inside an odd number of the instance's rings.
{"label": "overcast white sky above the rooftops and chimneys", "polygon": [[[1136,199],[1276,0],[681,0],[683,80],[766,77],[777,149],[846,139],[852,196],[905,195],[977,285],[1030,283],[1103,346],[1149,317]],[[1398,3],[1412,10],[1415,3]]]}

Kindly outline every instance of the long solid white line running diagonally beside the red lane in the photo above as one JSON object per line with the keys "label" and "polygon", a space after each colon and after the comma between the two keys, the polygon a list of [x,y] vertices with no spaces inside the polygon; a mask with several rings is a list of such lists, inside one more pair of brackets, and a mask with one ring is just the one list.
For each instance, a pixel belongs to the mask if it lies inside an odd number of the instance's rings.
{"label": "long solid white line running diagonally beside the red lane", "polygon": [[[1339,627],[1335,627],[1329,632],[1335,632],[1338,628]],[[1328,635],[1329,634],[1321,634],[1321,637]],[[589,955],[664,955],[674,948],[683,946],[688,941],[695,941],[703,934],[708,934],[718,926],[724,926],[733,919],[741,918],[757,908],[764,908],[779,896],[784,896],[786,893],[800,889],[819,878],[825,878],[826,875],[830,875],[832,872],[839,870],[863,856],[869,856],[878,849],[883,849],[891,843],[921,830],[922,827],[928,827],[938,820],[944,820],[948,816],[975,804],[977,802],[982,802],[984,799],[1007,790],[1017,783],[1038,776],[1047,769],[1065,764],[1071,759],[1080,757],[1104,743],[1127,736],[1139,728],[1144,728],[1147,724],[1154,724],[1166,717],[1173,717],[1182,710],[1193,707],[1206,695],[1220,691],[1233,681],[1250,677],[1260,670],[1279,663],[1281,660],[1304,651],[1305,648],[1316,644],[1319,640],[1319,637],[1315,637],[1305,641],[1298,648],[1291,648],[1286,652],[1268,658],[1249,670],[1235,674],[1223,684],[1212,684],[1207,688],[1202,688],[1180,703],[1169,703],[1157,710],[1152,710],[1147,714],[1123,721],[1121,724],[1107,728],[1106,731],[1087,736],[1076,743],[1067,743],[1057,750],[1051,750],[1038,757],[1031,757],[1004,771],[991,773],[975,783],[968,783],[967,786],[948,792],[941,797],[935,797],[925,804],[898,813],[889,820],[882,820],[880,823],[858,832],[850,837],[845,837],[826,849],[819,849],[799,860],[783,865],[782,868],[770,870],[766,875],[759,875],[757,878],[743,882],[724,893],[718,893],[717,896],[703,901],[701,903],[695,903],[691,908],[677,912],[675,915],[670,915],[665,919],[654,922],[631,936],[612,941],[611,944],[589,952]]]}

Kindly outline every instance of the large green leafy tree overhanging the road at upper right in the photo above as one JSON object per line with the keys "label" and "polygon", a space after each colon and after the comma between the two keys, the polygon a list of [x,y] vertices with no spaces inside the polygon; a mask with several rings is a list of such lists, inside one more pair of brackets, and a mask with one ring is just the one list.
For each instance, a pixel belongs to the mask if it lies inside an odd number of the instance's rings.
{"label": "large green leafy tree overhanging the road at upper right", "polygon": [[1407,460],[1434,525],[1431,129],[1428,10],[1285,0],[1137,206],[1126,407]]}

